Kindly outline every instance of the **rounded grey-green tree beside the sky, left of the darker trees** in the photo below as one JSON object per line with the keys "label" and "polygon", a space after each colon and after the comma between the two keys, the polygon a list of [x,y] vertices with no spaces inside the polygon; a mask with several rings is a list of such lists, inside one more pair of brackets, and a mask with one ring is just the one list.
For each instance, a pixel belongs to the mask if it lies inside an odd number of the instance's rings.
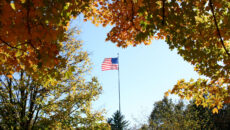
{"label": "rounded grey-green tree beside the sky, left of the darker trees", "polygon": [[164,98],[154,104],[149,117],[150,128],[155,129],[181,129],[184,128],[183,102],[174,104],[171,99]]}

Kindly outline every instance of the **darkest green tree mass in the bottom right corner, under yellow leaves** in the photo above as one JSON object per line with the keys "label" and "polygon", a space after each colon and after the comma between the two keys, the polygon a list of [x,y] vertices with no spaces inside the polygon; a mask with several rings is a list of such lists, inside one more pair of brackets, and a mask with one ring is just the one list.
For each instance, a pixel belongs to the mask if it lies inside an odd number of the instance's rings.
{"label": "darkest green tree mass in the bottom right corner, under yellow leaves", "polygon": [[190,101],[185,109],[187,125],[197,129],[221,129],[230,128],[230,106],[225,104],[218,114],[213,114],[211,109],[197,106],[195,101]]}

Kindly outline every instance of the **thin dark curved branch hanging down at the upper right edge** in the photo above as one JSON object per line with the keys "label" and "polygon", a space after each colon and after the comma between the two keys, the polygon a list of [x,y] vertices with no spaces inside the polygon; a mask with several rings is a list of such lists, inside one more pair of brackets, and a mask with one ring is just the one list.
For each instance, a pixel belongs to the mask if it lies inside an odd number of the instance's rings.
{"label": "thin dark curved branch hanging down at the upper right edge", "polygon": [[229,54],[227,48],[226,48],[225,45],[224,45],[224,40],[223,40],[223,38],[222,38],[222,36],[221,36],[221,34],[220,34],[220,29],[219,29],[218,24],[217,24],[216,16],[215,16],[214,9],[213,9],[212,0],[209,0],[209,6],[210,6],[211,11],[212,11],[213,19],[214,19],[214,22],[215,22],[215,26],[216,26],[216,30],[217,30],[218,36],[219,36],[219,38],[220,38],[220,42],[221,42],[221,44],[222,44],[222,46],[223,46],[225,52],[228,54],[228,56],[230,56],[230,54]]}

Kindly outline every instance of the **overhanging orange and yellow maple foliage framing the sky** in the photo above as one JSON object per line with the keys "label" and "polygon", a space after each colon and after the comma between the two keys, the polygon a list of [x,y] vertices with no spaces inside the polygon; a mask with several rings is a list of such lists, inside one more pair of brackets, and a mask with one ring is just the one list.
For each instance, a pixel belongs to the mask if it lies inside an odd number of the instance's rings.
{"label": "overhanging orange and yellow maple foliage framing the sky", "polygon": [[106,40],[120,47],[164,39],[207,77],[179,80],[166,95],[194,98],[217,112],[230,102],[229,8],[228,0],[1,0],[0,74],[49,75],[64,62],[59,43],[69,21],[83,13],[96,25],[112,24]]}

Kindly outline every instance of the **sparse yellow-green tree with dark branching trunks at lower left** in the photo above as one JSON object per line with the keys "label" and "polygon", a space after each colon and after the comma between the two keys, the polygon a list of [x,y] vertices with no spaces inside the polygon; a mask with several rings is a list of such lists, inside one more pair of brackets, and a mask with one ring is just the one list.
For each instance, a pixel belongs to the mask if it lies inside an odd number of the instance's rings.
{"label": "sparse yellow-green tree with dark branching trunks at lower left", "polygon": [[90,61],[73,32],[60,43],[62,62],[50,68],[49,75],[34,78],[25,70],[0,75],[1,129],[109,128],[102,111],[91,109],[102,87],[95,77],[84,78]]}

